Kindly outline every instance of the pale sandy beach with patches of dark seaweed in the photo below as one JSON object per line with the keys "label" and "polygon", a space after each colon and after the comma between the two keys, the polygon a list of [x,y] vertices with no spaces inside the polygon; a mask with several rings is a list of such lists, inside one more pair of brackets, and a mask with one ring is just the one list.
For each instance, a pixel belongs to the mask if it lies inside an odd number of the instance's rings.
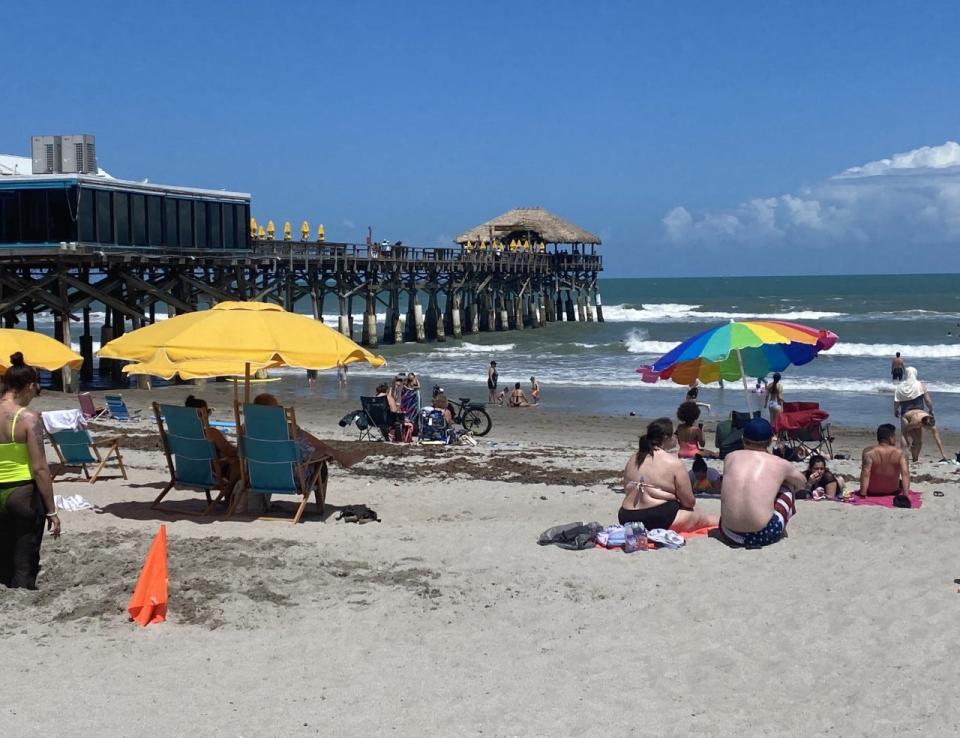
{"label": "pale sandy beach with patches of dark seaweed", "polygon": [[[960,476],[933,463],[929,441],[913,468],[918,510],[801,501],[790,537],[765,550],[700,538],[627,556],[536,539],[615,521],[640,418],[493,408],[475,448],[369,443],[365,461],[332,469],[324,518],[293,526],[151,510],[168,475],[148,403],[196,391],[126,392],[144,420],[93,426],[124,437],[128,482],[58,478],[57,494],[97,510],[63,514],[39,592],[0,592],[0,678],[15,685],[5,734],[960,729]],[[200,391],[229,415],[225,385]],[[50,394],[36,406],[65,404]],[[298,419],[356,444],[336,425],[353,406],[301,398]],[[835,433],[835,449],[858,459],[872,431]],[[169,499],[200,507],[199,495]],[[335,519],[358,503],[382,522]],[[125,608],[160,524],[169,615],[140,629]]]}

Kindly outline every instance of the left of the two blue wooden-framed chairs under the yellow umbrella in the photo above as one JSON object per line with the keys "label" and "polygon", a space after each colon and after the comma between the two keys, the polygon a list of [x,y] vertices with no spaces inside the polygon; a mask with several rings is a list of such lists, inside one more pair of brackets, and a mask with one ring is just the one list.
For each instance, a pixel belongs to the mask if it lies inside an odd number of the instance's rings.
{"label": "left of the two blue wooden-framed chairs under the yellow umbrella", "polygon": [[[167,457],[170,481],[163,488],[152,507],[160,509],[160,501],[167,493],[177,489],[202,490],[207,497],[207,507],[203,515],[208,515],[220,500],[230,494],[228,480],[223,476],[217,448],[207,435],[207,414],[196,407],[181,405],[161,405],[153,403],[153,414],[160,430],[160,442]],[[210,496],[210,490],[219,491],[216,499]],[[194,511],[180,510],[188,515]]]}

